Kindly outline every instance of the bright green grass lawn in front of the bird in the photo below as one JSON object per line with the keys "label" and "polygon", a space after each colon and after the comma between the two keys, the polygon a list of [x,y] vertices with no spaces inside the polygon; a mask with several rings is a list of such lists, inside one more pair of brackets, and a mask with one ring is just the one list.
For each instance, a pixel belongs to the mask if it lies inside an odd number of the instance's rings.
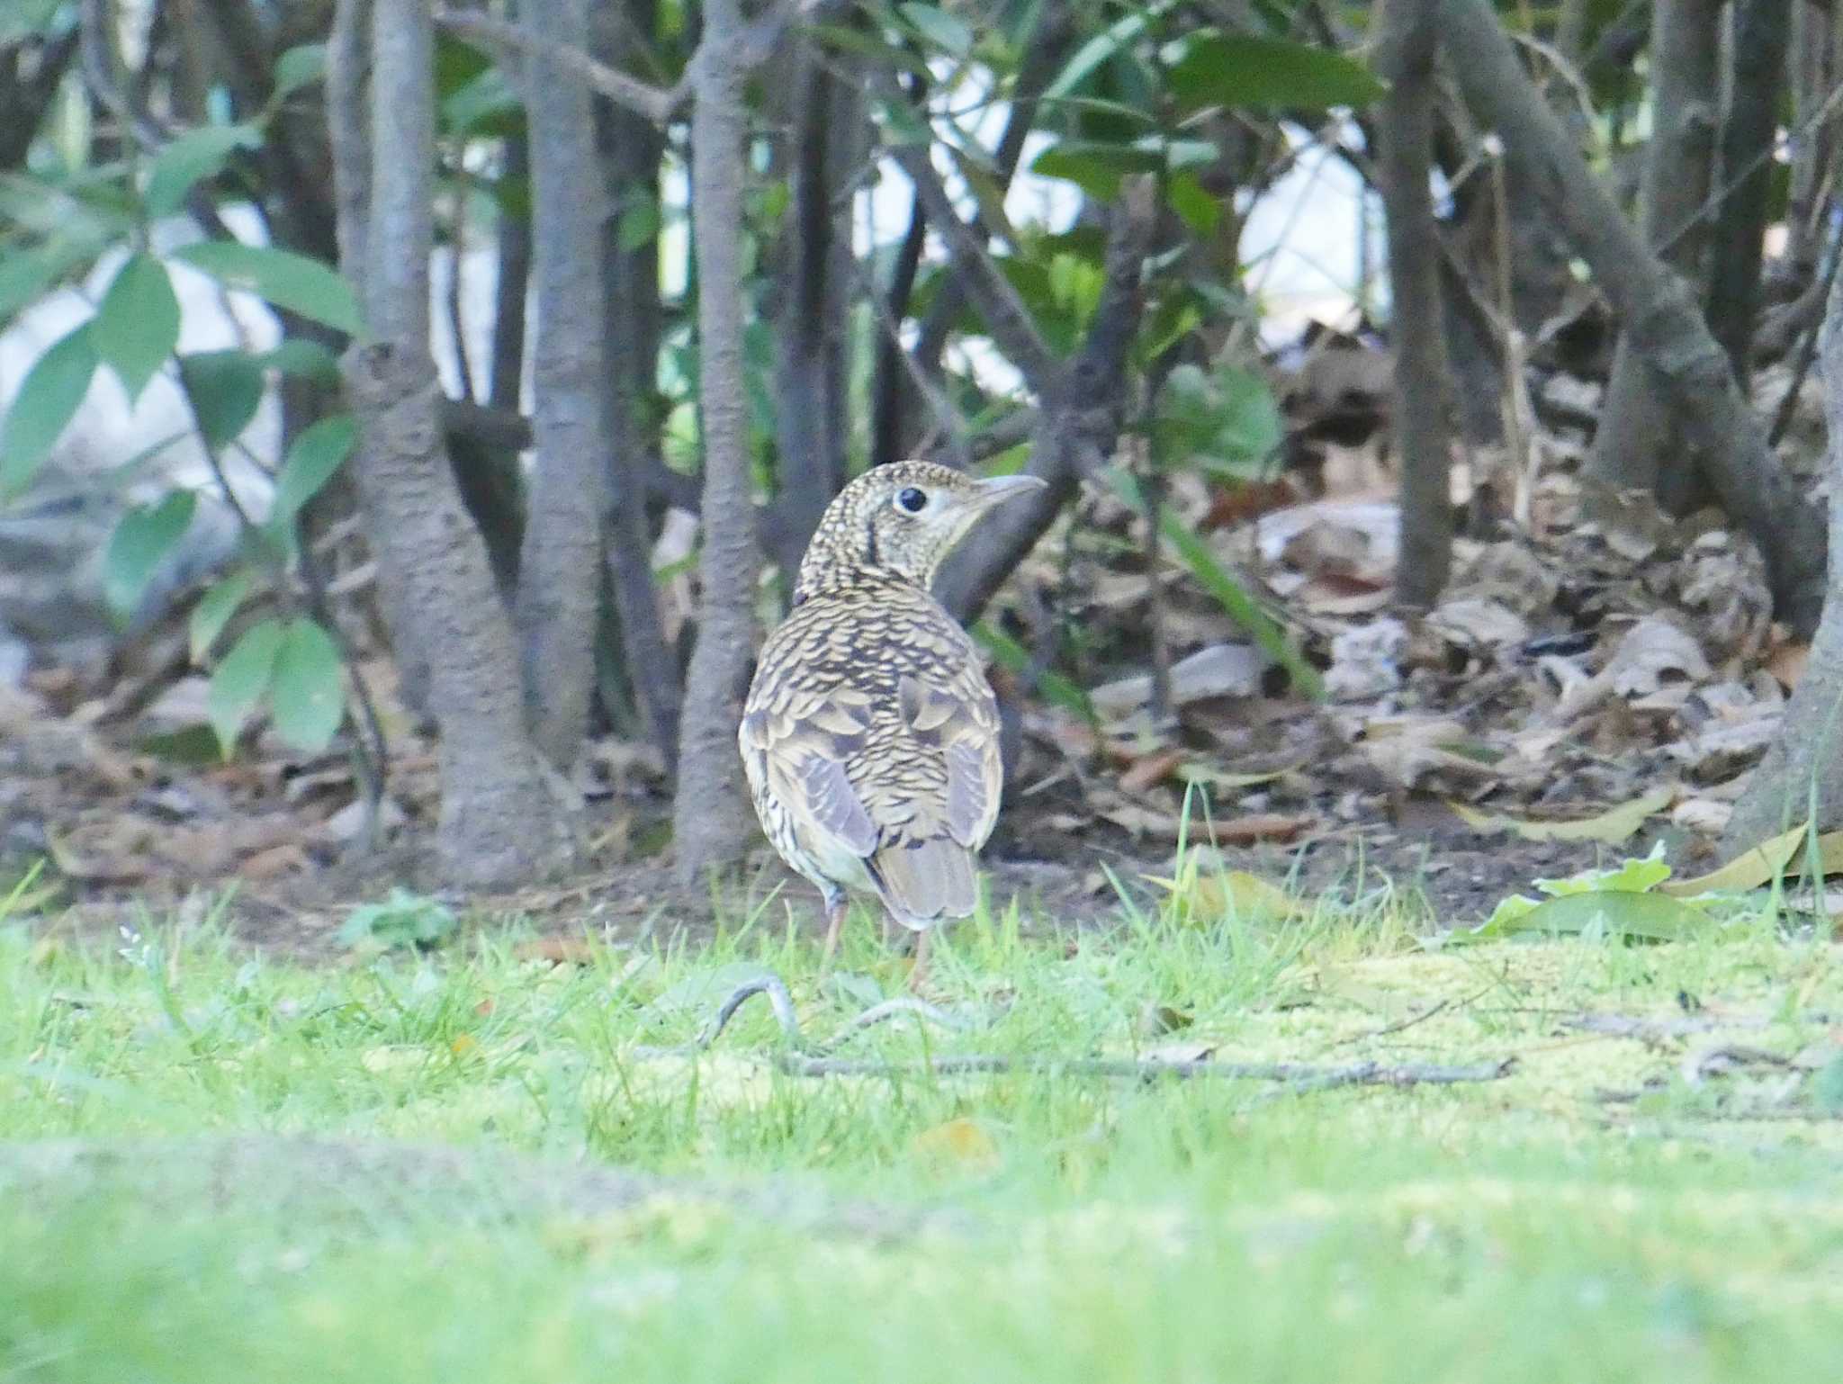
{"label": "bright green grass lawn in front of the bird", "polygon": [[[971,1032],[905,1015],[840,1052],[1515,1056],[1509,1078],[804,1080],[769,1061],[759,1001],[702,1056],[649,1054],[761,968],[815,1041],[901,991],[872,927],[822,986],[767,910],[566,966],[527,958],[516,920],[334,968],[210,923],[120,949],[0,927],[0,1380],[1834,1377],[1837,949],[1769,921],[1648,947],[1412,931],[1386,890],[1286,921],[980,916],[934,958]],[[1723,1026],[1568,1025],[1686,1006]],[[1723,1043],[1804,1065],[1683,1076]],[[162,1163],[162,1141],[232,1133],[269,1141],[236,1187]],[[343,1143],[306,1137],[547,1161],[346,1176]],[[122,1157],[20,1170],[68,1139]],[[584,1163],[667,1190],[577,1205]],[[514,1187],[533,1176],[542,1211]]]}

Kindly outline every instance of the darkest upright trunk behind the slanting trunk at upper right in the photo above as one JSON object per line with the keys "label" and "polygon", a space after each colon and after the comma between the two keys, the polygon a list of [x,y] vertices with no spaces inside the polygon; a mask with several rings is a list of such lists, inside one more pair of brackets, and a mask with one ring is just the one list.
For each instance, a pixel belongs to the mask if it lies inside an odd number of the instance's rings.
{"label": "darkest upright trunk behind the slanting trunk at upper right", "polygon": [[[1760,310],[1766,254],[1769,157],[1786,90],[1791,0],[1734,0],[1729,109],[1721,123],[1721,181],[1727,192],[1710,236],[1708,328],[1727,352],[1742,393],[1753,372],[1753,323]],[[1742,170],[1747,170],[1742,175]]]}

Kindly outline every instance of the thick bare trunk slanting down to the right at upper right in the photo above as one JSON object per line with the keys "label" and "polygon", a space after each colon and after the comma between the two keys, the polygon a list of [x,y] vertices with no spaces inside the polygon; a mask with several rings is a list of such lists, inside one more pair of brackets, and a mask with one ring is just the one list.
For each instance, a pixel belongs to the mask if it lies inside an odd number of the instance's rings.
{"label": "thick bare trunk slanting down to the right at upper right", "polygon": [[1810,632],[1823,604],[1825,525],[1767,448],[1688,286],[1587,168],[1489,4],[1441,0],[1441,35],[1467,105],[1539,171],[1533,205],[1567,230],[1672,407],[1708,446],[1708,481],[1760,545],[1778,617]]}

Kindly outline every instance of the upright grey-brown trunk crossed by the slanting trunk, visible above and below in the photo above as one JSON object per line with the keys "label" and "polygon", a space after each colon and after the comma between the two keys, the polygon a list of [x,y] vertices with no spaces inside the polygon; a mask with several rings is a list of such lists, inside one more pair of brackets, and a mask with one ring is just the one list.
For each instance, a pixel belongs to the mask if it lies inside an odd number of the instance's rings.
{"label": "upright grey-brown trunk crossed by the slanting trunk, visible above and below", "polygon": [[[1721,0],[1653,0],[1651,11],[1651,147],[1638,194],[1638,225],[1648,243],[1662,245],[1708,197],[1720,100]],[[1664,262],[1690,282],[1703,236],[1683,236]],[[1591,470],[1614,488],[1655,492],[1666,466],[1694,466],[1679,415],[1666,407],[1662,389],[1622,335],[1613,358],[1605,413],[1594,435]],[[1675,487],[1673,487],[1675,488]]]}

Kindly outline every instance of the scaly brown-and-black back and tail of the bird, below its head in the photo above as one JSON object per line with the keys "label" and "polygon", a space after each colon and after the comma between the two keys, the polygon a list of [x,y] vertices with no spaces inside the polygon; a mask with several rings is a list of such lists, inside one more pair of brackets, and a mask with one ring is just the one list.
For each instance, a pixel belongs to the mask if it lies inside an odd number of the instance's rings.
{"label": "scaly brown-and-black back and tail of the bird, below its head", "polygon": [[973,910],[999,807],[999,715],[966,630],[896,579],[818,592],[761,651],[743,759],[809,877],[875,888],[910,927]]}

